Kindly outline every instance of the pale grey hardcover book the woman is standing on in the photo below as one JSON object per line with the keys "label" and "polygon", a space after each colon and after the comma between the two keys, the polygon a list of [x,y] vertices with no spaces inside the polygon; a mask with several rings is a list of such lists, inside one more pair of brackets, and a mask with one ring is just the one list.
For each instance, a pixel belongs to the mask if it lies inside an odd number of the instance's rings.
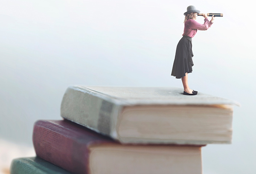
{"label": "pale grey hardcover book the woman is standing on", "polygon": [[173,87],[70,86],[61,116],[121,143],[231,143],[233,105]]}

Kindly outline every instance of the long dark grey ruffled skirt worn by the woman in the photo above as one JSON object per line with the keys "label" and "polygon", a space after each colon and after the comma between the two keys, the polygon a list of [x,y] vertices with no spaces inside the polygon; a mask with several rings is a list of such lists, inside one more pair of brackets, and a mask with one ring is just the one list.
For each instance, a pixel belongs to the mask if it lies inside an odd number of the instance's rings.
{"label": "long dark grey ruffled skirt worn by the woman", "polygon": [[186,76],[186,73],[192,73],[193,61],[192,38],[183,36],[176,48],[175,59],[172,67],[172,76],[176,79]]}

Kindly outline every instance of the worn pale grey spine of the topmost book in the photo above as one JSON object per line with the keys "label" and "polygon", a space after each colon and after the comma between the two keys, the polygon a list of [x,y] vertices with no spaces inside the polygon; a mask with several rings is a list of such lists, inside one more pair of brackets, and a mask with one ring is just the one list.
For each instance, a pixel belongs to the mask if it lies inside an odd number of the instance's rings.
{"label": "worn pale grey spine of the topmost book", "polygon": [[68,87],[61,102],[61,117],[118,139],[116,124],[122,105],[98,93]]}

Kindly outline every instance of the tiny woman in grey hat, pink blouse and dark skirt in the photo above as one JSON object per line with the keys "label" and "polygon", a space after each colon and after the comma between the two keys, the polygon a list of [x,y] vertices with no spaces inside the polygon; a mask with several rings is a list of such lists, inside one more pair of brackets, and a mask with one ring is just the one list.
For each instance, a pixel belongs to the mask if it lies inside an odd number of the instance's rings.
{"label": "tiny woman in grey hat, pink blouse and dark skirt", "polygon": [[180,39],[175,54],[175,60],[172,67],[172,76],[175,76],[176,79],[182,80],[184,87],[184,95],[197,95],[197,91],[191,90],[188,85],[188,73],[192,73],[193,61],[192,57],[192,37],[195,36],[198,30],[207,30],[214,21],[214,16],[212,20],[208,20],[207,14],[203,14],[204,24],[196,22],[197,14],[200,13],[195,6],[188,6],[187,11],[184,13],[184,33]]}

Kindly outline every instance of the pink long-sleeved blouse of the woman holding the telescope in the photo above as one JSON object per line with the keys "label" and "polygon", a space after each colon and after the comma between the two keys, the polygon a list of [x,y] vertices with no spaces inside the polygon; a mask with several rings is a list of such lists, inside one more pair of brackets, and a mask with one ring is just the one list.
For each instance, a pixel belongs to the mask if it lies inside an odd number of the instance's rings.
{"label": "pink long-sleeved blouse of the woman holding the telescope", "polygon": [[209,21],[208,18],[204,19],[204,24],[198,23],[195,20],[186,20],[182,36],[194,37],[198,30],[207,30],[211,25],[212,21]]}

